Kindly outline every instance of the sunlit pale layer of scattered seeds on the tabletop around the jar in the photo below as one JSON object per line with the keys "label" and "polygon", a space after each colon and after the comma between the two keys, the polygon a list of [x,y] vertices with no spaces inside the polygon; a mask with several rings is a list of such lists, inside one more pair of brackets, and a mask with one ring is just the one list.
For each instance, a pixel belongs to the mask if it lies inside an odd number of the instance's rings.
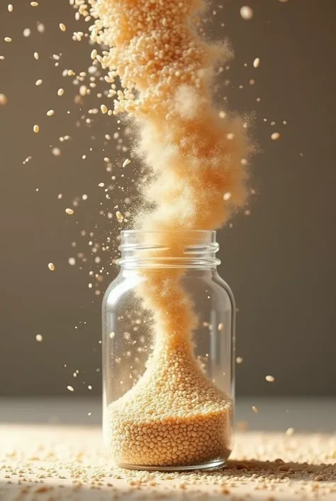
{"label": "sunlit pale layer of scattered seeds on the tabletop around the jar", "polygon": [[336,438],[330,435],[237,433],[227,468],[191,473],[117,468],[101,448],[96,429],[3,425],[0,441],[4,500],[16,495],[20,501],[66,501],[77,496],[95,501],[332,501],[336,495]]}

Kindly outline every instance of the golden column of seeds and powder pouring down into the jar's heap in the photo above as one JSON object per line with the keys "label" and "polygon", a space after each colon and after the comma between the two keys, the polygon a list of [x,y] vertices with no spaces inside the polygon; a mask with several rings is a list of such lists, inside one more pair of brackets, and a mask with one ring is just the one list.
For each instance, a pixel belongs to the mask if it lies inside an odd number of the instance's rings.
{"label": "golden column of seeds and powder pouring down into the jar's heap", "polygon": [[[178,231],[221,227],[246,202],[247,123],[219,113],[211,93],[215,65],[231,50],[201,34],[201,0],[70,1],[95,19],[91,40],[108,48],[94,57],[108,68],[113,113],[138,129],[136,152],[150,170],[143,195],[152,209],[136,226],[150,235],[147,244],[181,257]],[[181,285],[184,270],[141,272],[138,293],[152,312],[155,348],[145,374],[108,406],[113,458],[140,466],[225,459],[232,404],[194,357],[198,320]]]}

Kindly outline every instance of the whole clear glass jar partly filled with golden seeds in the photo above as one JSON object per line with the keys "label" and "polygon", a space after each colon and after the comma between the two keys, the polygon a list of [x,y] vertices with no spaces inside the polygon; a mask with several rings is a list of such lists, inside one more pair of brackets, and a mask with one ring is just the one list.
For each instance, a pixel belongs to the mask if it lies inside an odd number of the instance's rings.
{"label": "whole clear glass jar partly filled with golden seeds", "polygon": [[103,435],[140,470],[225,464],[233,443],[235,301],[215,231],[121,232],[103,298]]}

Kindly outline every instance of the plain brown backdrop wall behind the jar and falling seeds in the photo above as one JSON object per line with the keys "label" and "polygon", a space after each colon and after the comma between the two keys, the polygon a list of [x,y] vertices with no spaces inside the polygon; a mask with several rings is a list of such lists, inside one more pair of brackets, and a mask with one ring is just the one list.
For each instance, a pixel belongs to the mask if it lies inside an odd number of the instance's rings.
{"label": "plain brown backdrop wall behind the jar and falling seeds", "polygon": [[[74,21],[67,0],[40,0],[35,9],[20,1],[11,14],[7,3],[0,0],[0,55],[6,56],[0,60],[0,93],[9,99],[0,106],[0,394],[67,394],[67,384],[75,387],[72,397],[88,394],[87,384],[99,394],[101,296],[88,288],[88,242],[116,235],[115,222],[99,210],[115,212],[125,185],[127,195],[133,193],[136,166],[128,166],[121,188],[106,200],[98,187],[111,182],[103,158],[113,159],[113,173],[118,167],[115,143],[104,146],[104,134],[112,135],[116,123],[99,114],[90,115],[91,128],[85,126],[80,117],[88,117],[97,100],[87,99],[80,110],[72,79],[62,77],[65,68],[86,70],[91,52],[85,41],[72,41],[72,31],[83,25]],[[251,21],[240,17],[244,4],[254,10]],[[231,0],[216,10],[212,31],[229,36],[236,52],[219,94],[233,109],[255,110],[262,149],[254,161],[251,215],[235,218],[233,228],[218,235],[220,273],[240,308],[237,355],[244,362],[237,367],[237,392],[335,396],[336,2]],[[45,33],[37,31],[37,21]],[[28,38],[25,28],[32,31]],[[13,42],[5,43],[4,36]],[[62,53],[58,68],[55,53]],[[256,57],[261,65],[254,69]],[[39,78],[43,85],[35,87]],[[65,88],[62,98],[59,87]],[[55,109],[54,117],[45,116],[48,109]],[[33,133],[34,124],[40,134]],[[271,141],[273,131],[281,133],[279,141]],[[65,134],[71,139],[60,143]],[[52,156],[55,146],[59,157]],[[33,158],[23,165],[28,156]],[[88,200],[67,216],[65,208],[83,193]],[[106,264],[106,254],[96,255]],[[69,257],[77,257],[76,266],[69,266]],[[48,262],[57,266],[54,273]],[[106,286],[105,280],[99,284],[102,291]],[[42,343],[36,334],[43,335]],[[276,377],[274,384],[265,382],[267,374]]]}

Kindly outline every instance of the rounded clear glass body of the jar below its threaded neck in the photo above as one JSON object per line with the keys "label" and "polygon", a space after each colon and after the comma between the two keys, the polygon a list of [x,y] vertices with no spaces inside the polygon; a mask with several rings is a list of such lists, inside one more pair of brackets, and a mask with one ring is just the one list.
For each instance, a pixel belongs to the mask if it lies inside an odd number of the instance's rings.
{"label": "rounded clear glass body of the jar below its threaded neck", "polygon": [[190,345],[183,333],[166,343],[139,293],[155,273],[162,266],[122,266],[103,299],[104,441],[126,468],[223,465],[233,445],[233,294],[215,266],[186,267],[180,282],[196,323]]}

